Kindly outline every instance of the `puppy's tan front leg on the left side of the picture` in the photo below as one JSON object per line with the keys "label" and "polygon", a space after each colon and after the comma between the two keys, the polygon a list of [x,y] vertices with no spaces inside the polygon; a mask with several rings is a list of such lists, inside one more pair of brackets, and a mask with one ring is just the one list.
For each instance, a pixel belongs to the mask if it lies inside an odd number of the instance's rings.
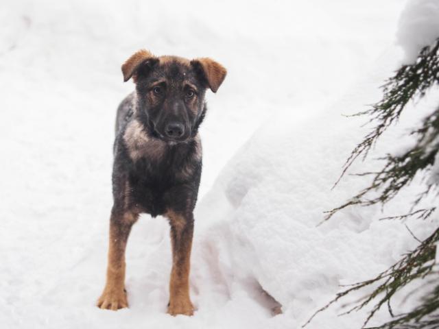
{"label": "puppy's tan front leg on the left side of the picture", "polygon": [[128,307],[125,290],[125,249],[132,224],[138,214],[113,210],[110,217],[108,267],[104,292],[97,301],[99,308],[118,310]]}

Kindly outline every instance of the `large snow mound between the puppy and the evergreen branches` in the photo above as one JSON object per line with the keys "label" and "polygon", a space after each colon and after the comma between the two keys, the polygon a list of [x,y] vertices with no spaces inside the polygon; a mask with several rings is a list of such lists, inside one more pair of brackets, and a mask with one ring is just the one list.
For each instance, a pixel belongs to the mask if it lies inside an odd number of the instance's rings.
{"label": "large snow mound between the puppy and the evergreen branches", "polygon": [[[395,57],[396,53],[389,53],[381,61],[392,69]],[[380,74],[382,81],[390,73],[381,70]],[[340,114],[359,112],[363,104],[379,97],[376,78],[360,83],[350,96],[315,117],[297,120],[296,114],[285,110],[261,125],[219,175],[196,214],[199,219],[215,217],[211,219],[215,224],[204,228],[201,245],[222,255],[216,267],[226,284],[257,282],[253,284],[281,303],[296,326],[329,302],[340,284],[372,278],[414,248],[417,242],[405,224],[425,237],[438,222],[437,213],[433,223],[422,228],[412,221],[379,221],[409,212],[411,198],[423,191],[419,178],[383,209],[346,208],[318,226],[324,210],[340,206],[370,183],[346,175],[331,190],[344,161],[369,129],[359,127],[365,118]],[[438,98],[436,93],[416,104],[416,111],[408,108],[368,160],[355,163],[350,172],[381,169],[383,162],[373,159],[411,143],[407,130]],[[360,328],[364,321],[364,313],[337,318],[333,312],[325,311],[308,328]],[[374,321],[386,316],[383,313]],[[330,327],[323,327],[328,323]]]}

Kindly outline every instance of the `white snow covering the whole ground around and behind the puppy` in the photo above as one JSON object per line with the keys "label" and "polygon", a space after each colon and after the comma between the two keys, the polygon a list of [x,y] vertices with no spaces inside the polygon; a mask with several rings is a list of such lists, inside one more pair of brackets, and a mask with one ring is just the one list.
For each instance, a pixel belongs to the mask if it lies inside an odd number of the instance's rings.
{"label": "white snow covering the whole ground around and behind the puppy", "polygon": [[[0,327],[300,328],[340,284],[372,278],[414,248],[405,225],[423,239],[437,213],[422,226],[379,219],[407,212],[421,177],[383,209],[348,208],[317,226],[368,184],[346,175],[331,190],[370,129],[342,114],[379,100],[385,78],[423,46],[405,27],[416,21],[410,12],[431,14],[416,3],[435,1],[410,1],[399,21],[405,2],[1,1]],[[430,40],[425,24],[417,30]],[[120,66],[141,48],[209,56],[228,69],[201,129],[193,317],[166,314],[169,227],[146,215],[128,242],[130,308],[95,307],[115,109],[134,87]],[[438,100],[411,104],[350,172],[379,169],[378,156],[412,143],[409,128]],[[282,314],[272,315],[262,289]],[[359,328],[366,315],[341,312],[333,306],[307,328]],[[388,317],[384,310],[371,324]]]}

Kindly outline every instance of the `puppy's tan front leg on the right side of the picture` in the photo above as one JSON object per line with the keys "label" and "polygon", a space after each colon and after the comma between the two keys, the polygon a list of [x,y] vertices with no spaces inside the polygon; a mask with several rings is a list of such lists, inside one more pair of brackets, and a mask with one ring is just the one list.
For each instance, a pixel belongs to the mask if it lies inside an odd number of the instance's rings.
{"label": "puppy's tan front leg on the right side of the picture", "polygon": [[169,282],[170,315],[193,315],[189,298],[189,269],[193,236],[193,214],[168,211],[171,224],[172,270]]}

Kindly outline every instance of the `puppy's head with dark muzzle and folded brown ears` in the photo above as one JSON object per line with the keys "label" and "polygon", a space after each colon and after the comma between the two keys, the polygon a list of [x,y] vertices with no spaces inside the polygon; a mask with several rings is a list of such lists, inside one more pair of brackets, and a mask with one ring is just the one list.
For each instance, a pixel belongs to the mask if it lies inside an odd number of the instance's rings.
{"label": "puppy's head with dark muzzle and folded brown ears", "polygon": [[187,60],[137,51],[122,65],[123,80],[132,77],[137,91],[136,115],[163,141],[182,142],[195,136],[204,117],[204,95],[216,93],[226,69],[210,58]]}

